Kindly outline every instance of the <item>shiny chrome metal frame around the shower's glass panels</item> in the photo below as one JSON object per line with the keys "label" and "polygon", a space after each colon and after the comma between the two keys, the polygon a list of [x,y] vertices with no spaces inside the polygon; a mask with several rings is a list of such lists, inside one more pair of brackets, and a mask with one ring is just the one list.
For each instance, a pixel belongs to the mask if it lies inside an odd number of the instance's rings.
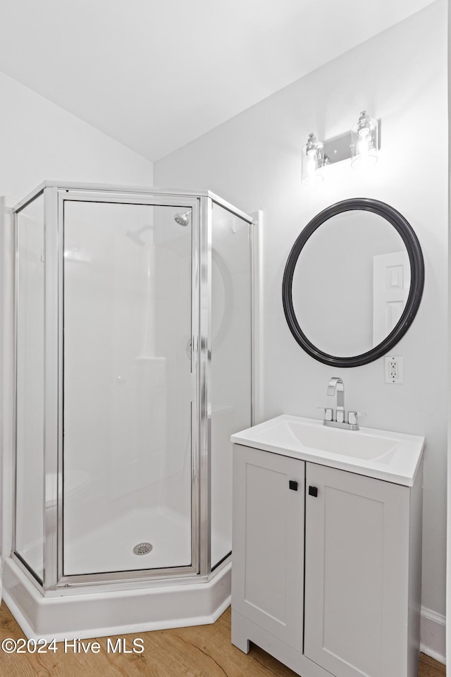
{"label": "shiny chrome metal frame around the shower's glass panels", "polygon": [[[165,190],[94,183],[44,181],[14,207],[15,243],[15,336],[17,341],[17,214],[44,194],[44,574],[42,583],[27,563],[16,553],[16,432],[14,439],[13,544],[11,558],[45,596],[82,594],[87,587],[96,590],[123,590],[175,583],[206,583],[230,561],[226,556],[211,571],[211,228],[212,207],[216,203],[252,226],[252,216],[208,190]],[[103,199],[101,199],[103,198]],[[63,575],[63,204],[66,200],[118,202],[149,206],[192,208],[191,262],[191,338],[192,338],[192,564],[163,569],[140,569]],[[251,228],[250,256],[255,262],[254,228]],[[254,281],[251,275],[251,285]],[[252,305],[254,304],[252,290]],[[256,312],[252,307],[252,315]],[[252,336],[254,344],[254,322]],[[16,363],[16,355],[15,355]],[[254,350],[252,350],[251,409],[254,424]],[[17,388],[14,384],[14,401]],[[15,405],[16,431],[17,416]]]}

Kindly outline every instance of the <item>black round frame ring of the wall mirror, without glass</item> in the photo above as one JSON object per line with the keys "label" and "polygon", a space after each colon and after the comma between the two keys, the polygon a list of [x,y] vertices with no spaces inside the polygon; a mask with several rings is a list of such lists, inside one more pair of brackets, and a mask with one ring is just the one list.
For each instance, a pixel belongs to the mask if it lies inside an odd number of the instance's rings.
{"label": "black round frame ring of the wall mirror, without glass", "polygon": [[[295,266],[299,254],[302,252],[302,248],[305,243],[311,236],[316,228],[319,228],[324,221],[327,221],[335,214],[341,214],[342,212],[350,212],[354,209],[363,209],[366,212],[373,212],[379,216],[383,216],[393,228],[400,234],[404,245],[406,246],[407,253],[409,255],[410,270],[411,270],[411,279],[410,279],[410,291],[407,298],[407,303],[402,312],[402,315],[397,322],[395,328],[388,334],[384,340],[368,350],[362,355],[354,355],[350,358],[335,357],[334,355],[328,355],[324,353],[323,350],[316,348],[311,341],[305,336],[297,318],[295,315],[295,310],[293,308],[292,302],[292,281],[293,274],[295,273]],[[295,337],[299,346],[303,348],[306,353],[311,355],[315,360],[323,362],[325,365],[330,365],[331,367],[360,367],[361,365],[367,365],[373,360],[381,358],[382,355],[385,355],[389,352],[393,346],[400,341],[402,336],[406,333],[412,324],[416,311],[419,308],[421,295],[423,294],[424,288],[424,260],[423,253],[421,252],[420,243],[416,237],[412,226],[409,224],[404,216],[397,212],[396,209],[390,207],[390,205],[385,204],[385,202],[380,202],[379,200],[372,200],[369,197],[355,197],[350,200],[342,200],[341,202],[336,202],[335,205],[331,205],[326,209],[323,209],[322,212],[316,214],[313,219],[305,226],[304,230],[301,232],[297,238],[295,244],[292,247],[290,255],[288,257],[287,263],[285,265],[285,272],[283,274],[283,285],[282,285],[282,299],[283,299],[283,310],[285,312],[285,318],[288,322],[288,327],[292,335]]]}

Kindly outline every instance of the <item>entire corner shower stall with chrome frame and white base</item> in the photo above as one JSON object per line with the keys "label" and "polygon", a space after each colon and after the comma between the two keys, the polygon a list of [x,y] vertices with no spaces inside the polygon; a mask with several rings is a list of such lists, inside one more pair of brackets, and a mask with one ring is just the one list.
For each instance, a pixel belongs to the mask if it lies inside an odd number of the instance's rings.
{"label": "entire corner shower stall with chrome frame and white base", "polygon": [[252,425],[252,218],[208,191],[45,182],[16,214],[13,547],[29,636],[214,620]]}

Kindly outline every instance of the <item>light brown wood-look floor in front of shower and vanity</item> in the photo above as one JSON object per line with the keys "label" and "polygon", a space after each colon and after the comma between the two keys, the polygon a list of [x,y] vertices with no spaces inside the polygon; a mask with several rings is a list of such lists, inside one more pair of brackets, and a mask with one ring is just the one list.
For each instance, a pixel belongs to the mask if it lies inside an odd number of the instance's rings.
{"label": "light brown wood-look floor in front of shower and vanity", "polygon": [[[0,607],[0,643],[23,638],[8,607]],[[0,649],[1,677],[297,677],[261,649],[243,654],[230,644],[230,608],[211,626],[194,626],[152,633],[121,635],[128,650],[142,638],[140,654],[108,653],[106,638],[98,638],[100,652],[6,654]],[[113,645],[116,638],[111,638]],[[87,640],[84,640],[85,644]],[[138,647],[139,648],[139,647]],[[444,677],[445,666],[421,654],[419,677]]]}

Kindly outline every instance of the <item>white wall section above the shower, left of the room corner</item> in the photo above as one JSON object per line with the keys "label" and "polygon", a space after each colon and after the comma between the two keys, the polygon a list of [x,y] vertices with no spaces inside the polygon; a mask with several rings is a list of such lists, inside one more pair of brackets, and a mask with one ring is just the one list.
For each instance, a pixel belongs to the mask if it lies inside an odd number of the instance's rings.
{"label": "white wall section above the shower, left of the room corner", "polygon": [[0,72],[0,195],[44,179],[152,185],[152,162]]}

